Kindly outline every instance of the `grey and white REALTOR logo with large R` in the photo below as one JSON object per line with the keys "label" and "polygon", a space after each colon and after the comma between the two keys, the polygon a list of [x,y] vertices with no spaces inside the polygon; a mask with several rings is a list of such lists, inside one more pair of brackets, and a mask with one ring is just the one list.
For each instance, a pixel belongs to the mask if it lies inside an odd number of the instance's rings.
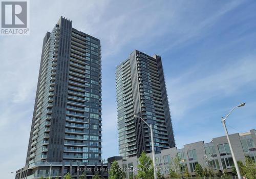
{"label": "grey and white REALTOR logo with large R", "polygon": [[29,35],[28,1],[1,2],[1,35]]}

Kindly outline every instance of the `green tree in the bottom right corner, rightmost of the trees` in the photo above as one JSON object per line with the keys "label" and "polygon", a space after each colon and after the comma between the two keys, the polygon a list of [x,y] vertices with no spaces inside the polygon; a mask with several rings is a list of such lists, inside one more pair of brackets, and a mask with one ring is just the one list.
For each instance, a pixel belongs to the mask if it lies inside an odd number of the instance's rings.
{"label": "green tree in the bottom right corner, rightmost of the trees", "polygon": [[256,179],[256,162],[253,161],[249,156],[246,156],[242,171],[242,174],[246,176],[246,178]]}

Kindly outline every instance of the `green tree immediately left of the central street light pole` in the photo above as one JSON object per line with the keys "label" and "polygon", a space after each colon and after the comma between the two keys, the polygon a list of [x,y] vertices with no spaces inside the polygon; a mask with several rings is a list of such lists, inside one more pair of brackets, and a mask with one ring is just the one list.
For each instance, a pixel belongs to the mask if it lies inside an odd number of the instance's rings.
{"label": "green tree immediately left of the central street light pole", "polygon": [[154,178],[154,167],[152,159],[146,155],[143,151],[139,158],[140,164],[138,165],[139,172],[138,178],[141,179],[153,179]]}

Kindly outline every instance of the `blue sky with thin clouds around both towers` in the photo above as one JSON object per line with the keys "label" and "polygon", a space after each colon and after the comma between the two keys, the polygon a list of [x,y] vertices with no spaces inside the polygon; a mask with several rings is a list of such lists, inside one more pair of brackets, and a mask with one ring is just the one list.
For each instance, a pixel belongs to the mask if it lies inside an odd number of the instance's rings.
{"label": "blue sky with thin clouds around both towers", "polygon": [[[30,36],[0,37],[0,168],[25,165],[42,39],[60,15],[101,39],[103,158],[118,155],[115,68],[162,57],[176,144],[256,129],[255,1],[31,1]],[[231,127],[230,127],[231,126]],[[7,135],[8,133],[8,135]]]}

